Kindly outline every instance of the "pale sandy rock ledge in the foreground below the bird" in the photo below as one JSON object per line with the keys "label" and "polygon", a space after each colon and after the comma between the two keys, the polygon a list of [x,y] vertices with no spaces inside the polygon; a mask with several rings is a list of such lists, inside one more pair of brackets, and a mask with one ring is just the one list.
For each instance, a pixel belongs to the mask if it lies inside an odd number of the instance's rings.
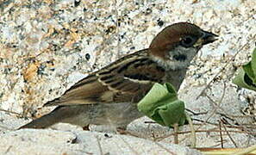
{"label": "pale sandy rock ledge in the foreground below the bird", "polygon": [[4,154],[202,154],[188,147],[109,133],[26,129],[2,133],[1,138]]}

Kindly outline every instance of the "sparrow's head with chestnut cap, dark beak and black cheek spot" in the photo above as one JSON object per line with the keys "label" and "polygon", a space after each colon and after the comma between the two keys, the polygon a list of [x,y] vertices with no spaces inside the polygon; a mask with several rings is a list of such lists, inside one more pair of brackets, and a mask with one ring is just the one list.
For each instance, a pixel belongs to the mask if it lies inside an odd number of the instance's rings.
{"label": "sparrow's head with chestnut cap, dark beak and black cheek spot", "polygon": [[178,70],[188,67],[197,52],[215,40],[216,34],[188,22],[178,22],[157,34],[149,46],[149,54],[166,70]]}

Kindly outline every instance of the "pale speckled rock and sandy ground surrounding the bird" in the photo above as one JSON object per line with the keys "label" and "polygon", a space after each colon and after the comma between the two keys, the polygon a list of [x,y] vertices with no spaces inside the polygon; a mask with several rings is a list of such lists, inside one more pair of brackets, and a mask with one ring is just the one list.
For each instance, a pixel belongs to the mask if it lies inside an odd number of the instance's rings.
{"label": "pale speckled rock and sandy ground surrounding the bird", "polygon": [[[61,124],[58,130],[13,131],[51,110],[41,106],[88,73],[147,48],[155,34],[174,22],[192,22],[220,35],[203,47],[179,91],[194,112],[197,147],[255,144],[255,94],[231,84],[253,52],[255,0],[0,0],[0,152],[195,154],[181,147],[190,145],[185,133],[190,127],[180,129],[181,146],[172,145],[173,136],[156,143],[152,140],[172,134],[172,129],[145,123],[147,118],[128,127],[139,139]],[[109,140],[122,140],[122,145],[109,148]],[[158,149],[148,149],[152,147]]]}

